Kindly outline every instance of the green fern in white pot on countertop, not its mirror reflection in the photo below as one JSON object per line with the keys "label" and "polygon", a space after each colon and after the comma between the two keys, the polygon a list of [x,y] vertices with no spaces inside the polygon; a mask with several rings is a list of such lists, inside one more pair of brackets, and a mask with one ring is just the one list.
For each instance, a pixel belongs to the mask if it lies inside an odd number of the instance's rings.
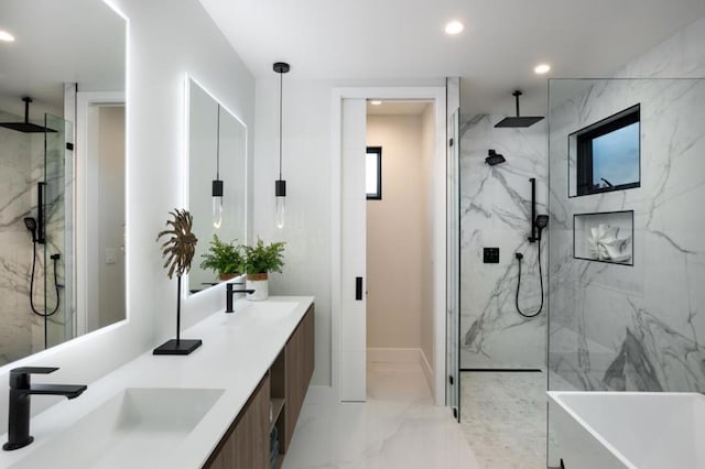
{"label": "green fern in white pot on countertop, not its mirror reflection", "polygon": [[247,274],[247,290],[254,293],[248,299],[262,301],[269,297],[269,272],[281,272],[284,266],[284,242],[264,244],[258,238],[257,244],[243,246],[243,270]]}

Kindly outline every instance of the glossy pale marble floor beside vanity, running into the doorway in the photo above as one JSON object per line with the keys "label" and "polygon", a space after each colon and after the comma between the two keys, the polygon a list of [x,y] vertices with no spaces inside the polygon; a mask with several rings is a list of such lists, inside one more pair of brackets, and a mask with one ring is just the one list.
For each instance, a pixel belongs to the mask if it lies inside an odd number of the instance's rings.
{"label": "glossy pale marble floor beside vanity, running into the doorway", "polygon": [[304,404],[284,469],[480,469],[420,366],[369,363],[365,403]]}

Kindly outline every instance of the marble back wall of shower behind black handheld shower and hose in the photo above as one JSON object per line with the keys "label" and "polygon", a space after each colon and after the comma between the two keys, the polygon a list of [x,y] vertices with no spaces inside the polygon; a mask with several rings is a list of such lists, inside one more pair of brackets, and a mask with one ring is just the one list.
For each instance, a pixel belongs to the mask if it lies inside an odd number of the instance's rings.
{"label": "marble back wall of shower behind black handheld shower and hose", "polygon": [[[514,253],[524,255],[519,304],[523,312],[534,313],[541,290],[538,246],[527,240],[529,178],[536,178],[536,212],[546,214],[546,122],[495,129],[503,117],[481,114],[460,127],[460,368],[466,369],[545,366],[547,306],[532,319],[517,313]],[[487,165],[489,149],[507,162]],[[546,247],[544,239],[544,282]],[[500,248],[499,264],[482,263],[482,248]]]}

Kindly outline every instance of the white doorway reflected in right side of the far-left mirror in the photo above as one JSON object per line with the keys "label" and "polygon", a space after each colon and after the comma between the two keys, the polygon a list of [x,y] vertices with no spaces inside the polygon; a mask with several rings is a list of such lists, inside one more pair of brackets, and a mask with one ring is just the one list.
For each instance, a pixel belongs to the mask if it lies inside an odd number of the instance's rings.
{"label": "white doorway reflected in right side of the far-left mirror", "polygon": [[122,92],[76,94],[76,332],[126,318]]}

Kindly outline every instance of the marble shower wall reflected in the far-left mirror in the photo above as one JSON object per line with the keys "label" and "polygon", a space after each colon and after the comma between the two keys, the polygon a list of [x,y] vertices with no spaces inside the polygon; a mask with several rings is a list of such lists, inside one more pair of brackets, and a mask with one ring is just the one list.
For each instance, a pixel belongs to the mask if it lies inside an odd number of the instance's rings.
{"label": "marble shower wall reflected in the far-left mirror", "polygon": [[[0,111],[2,122],[22,120]],[[65,138],[72,131],[61,119],[47,116],[47,122],[57,132],[47,133],[46,139],[44,133],[0,128],[0,366],[62,342],[70,338],[73,329],[70,288],[66,287],[66,279],[72,277],[66,268],[73,261],[73,247],[67,241],[70,227],[65,222],[73,190],[72,176],[66,177],[73,170]],[[51,312],[56,306],[54,265],[61,296],[57,313],[46,324],[30,306],[33,243],[23,220],[37,217],[39,182],[46,183],[46,244],[36,246],[35,309],[43,313],[46,306]],[[50,259],[52,254],[59,254],[56,263]]]}

